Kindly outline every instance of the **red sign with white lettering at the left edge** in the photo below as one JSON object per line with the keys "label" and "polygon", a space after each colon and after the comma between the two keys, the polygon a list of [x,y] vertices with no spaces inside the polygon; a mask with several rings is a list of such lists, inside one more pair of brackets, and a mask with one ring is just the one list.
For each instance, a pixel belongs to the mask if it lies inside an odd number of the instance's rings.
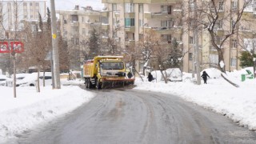
{"label": "red sign with white lettering at the left edge", "polygon": [[22,53],[24,44],[22,42],[0,42],[0,53]]}

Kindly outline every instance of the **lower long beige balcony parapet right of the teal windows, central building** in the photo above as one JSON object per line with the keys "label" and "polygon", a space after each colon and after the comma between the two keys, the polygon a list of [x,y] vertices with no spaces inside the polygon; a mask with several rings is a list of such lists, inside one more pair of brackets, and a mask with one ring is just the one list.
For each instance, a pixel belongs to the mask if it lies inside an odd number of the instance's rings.
{"label": "lower long beige balcony parapet right of the teal windows, central building", "polygon": [[182,34],[182,27],[145,27],[158,32],[158,34]]}

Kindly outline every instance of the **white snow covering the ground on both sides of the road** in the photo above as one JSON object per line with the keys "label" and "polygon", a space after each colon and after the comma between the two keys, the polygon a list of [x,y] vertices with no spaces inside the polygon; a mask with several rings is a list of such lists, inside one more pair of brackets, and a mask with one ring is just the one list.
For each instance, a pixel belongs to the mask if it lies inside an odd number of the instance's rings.
{"label": "white snow covering the ground on both sides of the road", "polygon": [[[253,71],[252,68],[249,70]],[[226,78],[237,83],[237,88],[226,82],[220,76],[220,71],[207,69],[206,72],[210,75],[208,84],[202,82],[198,86],[194,78],[191,78],[192,74],[183,73],[182,82],[166,84],[161,81],[161,74],[153,71],[156,80],[147,82],[145,77],[142,82],[141,78],[136,78],[134,89],[177,95],[226,115],[239,125],[247,126],[249,130],[256,130],[256,79],[246,78],[246,81],[241,82],[241,74],[246,74],[246,70],[227,73]],[[17,87],[17,98],[13,98],[12,87],[0,86],[0,143],[13,138],[15,134],[33,129],[39,123],[58,118],[94,98],[93,93],[70,84],[78,85],[82,81],[62,80],[60,90],[41,86],[41,93],[37,93],[35,87]]]}

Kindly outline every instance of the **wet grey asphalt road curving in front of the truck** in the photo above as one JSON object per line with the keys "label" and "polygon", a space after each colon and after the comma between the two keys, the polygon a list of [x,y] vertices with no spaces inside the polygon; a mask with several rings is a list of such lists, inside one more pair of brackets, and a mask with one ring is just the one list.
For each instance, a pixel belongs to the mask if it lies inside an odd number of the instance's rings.
{"label": "wet grey asphalt road curving in front of the truck", "polygon": [[122,89],[93,92],[97,96],[91,102],[8,143],[256,143],[255,132],[170,94]]}

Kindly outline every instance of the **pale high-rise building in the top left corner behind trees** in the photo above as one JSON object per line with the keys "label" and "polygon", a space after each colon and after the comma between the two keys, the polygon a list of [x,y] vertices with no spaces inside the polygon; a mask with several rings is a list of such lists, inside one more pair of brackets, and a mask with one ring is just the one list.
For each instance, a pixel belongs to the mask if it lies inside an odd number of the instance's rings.
{"label": "pale high-rise building in the top left corner behind trees", "polygon": [[0,2],[0,38],[12,37],[22,30],[23,22],[38,21],[38,13],[46,17],[46,0],[4,0]]}

